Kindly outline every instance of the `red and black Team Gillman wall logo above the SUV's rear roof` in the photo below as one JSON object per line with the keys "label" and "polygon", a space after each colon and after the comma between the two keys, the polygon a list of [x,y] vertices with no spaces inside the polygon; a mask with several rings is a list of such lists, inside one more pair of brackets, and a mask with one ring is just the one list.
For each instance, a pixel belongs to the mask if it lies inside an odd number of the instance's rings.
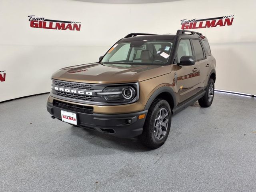
{"label": "red and black Team Gillman wall logo above the SUV's rear roof", "polygon": [[217,26],[229,26],[232,25],[234,20],[234,15],[231,16],[223,16],[223,17],[215,17],[208,19],[182,19],[181,21],[181,29],[199,29],[199,28],[210,28]]}

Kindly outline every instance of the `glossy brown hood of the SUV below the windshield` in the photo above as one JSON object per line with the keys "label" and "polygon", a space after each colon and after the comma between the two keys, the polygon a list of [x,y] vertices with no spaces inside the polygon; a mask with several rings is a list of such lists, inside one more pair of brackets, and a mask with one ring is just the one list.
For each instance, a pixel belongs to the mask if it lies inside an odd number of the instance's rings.
{"label": "glossy brown hood of the SUV below the windshield", "polygon": [[58,70],[53,79],[86,82],[95,84],[114,84],[140,82],[171,72],[170,65],[130,65],[90,63]]}

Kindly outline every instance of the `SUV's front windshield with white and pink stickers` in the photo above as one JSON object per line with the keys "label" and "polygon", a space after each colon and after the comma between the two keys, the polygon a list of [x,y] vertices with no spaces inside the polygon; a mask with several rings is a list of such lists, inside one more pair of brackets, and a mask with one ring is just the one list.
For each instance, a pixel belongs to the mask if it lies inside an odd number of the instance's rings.
{"label": "SUV's front windshield with white and pink stickers", "polygon": [[116,43],[102,58],[108,64],[166,64],[170,57],[170,41],[132,41]]}

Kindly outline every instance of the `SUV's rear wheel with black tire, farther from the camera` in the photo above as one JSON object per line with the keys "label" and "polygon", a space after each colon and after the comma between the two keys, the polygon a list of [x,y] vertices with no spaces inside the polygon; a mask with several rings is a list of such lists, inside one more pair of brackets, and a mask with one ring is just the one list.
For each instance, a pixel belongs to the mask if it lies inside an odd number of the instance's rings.
{"label": "SUV's rear wheel with black tire, farther from the camera", "polygon": [[212,104],[213,98],[214,98],[214,80],[210,78],[206,87],[206,92],[204,96],[198,100],[198,103],[201,107],[210,107]]}

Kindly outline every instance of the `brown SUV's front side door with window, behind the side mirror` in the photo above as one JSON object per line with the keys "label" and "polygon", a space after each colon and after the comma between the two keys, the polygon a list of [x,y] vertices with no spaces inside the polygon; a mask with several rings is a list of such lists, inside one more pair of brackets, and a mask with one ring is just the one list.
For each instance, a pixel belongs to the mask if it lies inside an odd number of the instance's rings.
{"label": "brown SUV's front side door with window, behind the side mirror", "polygon": [[[182,56],[194,56],[190,39],[181,39],[178,45],[176,63]],[[178,66],[175,71],[179,103],[194,96],[199,91],[199,65]]]}

